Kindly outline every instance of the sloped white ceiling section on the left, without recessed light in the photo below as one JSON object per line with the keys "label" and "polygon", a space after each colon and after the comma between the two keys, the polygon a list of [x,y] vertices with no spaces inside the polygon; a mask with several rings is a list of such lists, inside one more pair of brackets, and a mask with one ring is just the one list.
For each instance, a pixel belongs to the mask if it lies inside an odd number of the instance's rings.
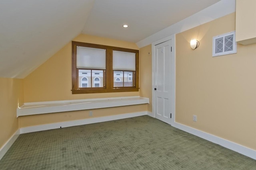
{"label": "sloped white ceiling section on the left, without recessed light", "polygon": [[24,78],[82,32],[94,0],[0,0],[0,77]]}

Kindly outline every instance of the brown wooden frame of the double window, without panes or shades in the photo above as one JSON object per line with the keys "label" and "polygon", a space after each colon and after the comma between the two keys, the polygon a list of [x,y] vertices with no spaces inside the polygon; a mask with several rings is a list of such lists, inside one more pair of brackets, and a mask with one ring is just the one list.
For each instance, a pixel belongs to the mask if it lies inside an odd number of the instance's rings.
{"label": "brown wooden frame of the double window, without panes or shades", "polygon": [[[78,70],[76,68],[76,47],[90,47],[97,49],[106,49],[106,70],[104,76],[105,86],[103,88],[78,88]],[[134,71],[134,87],[118,87],[114,88],[114,71],[113,71],[113,50],[135,53]],[[90,70],[90,69],[88,69]],[[92,69],[94,70],[94,69]],[[92,75],[91,75],[92,76]],[[110,93],[110,92],[138,92],[139,91],[139,51],[135,49],[126,49],[121,47],[112,47],[107,45],[98,45],[91,43],[82,43],[72,41],[72,94],[88,94],[88,93]]]}

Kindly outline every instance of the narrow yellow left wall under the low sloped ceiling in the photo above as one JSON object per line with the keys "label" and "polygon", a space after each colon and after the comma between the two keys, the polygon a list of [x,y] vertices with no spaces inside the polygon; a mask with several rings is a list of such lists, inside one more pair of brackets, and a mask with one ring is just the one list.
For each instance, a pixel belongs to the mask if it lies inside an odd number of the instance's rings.
{"label": "narrow yellow left wall under the low sloped ceiling", "polygon": [[0,78],[0,148],[19,128],[19,105],[23,105],[23,80]]}

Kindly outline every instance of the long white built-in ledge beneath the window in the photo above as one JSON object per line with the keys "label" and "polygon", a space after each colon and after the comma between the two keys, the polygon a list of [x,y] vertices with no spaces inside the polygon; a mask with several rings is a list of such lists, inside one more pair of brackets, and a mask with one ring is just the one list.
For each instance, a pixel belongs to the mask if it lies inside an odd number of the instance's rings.
{"label": "long white built-in ledge beneath the window", "polygon": [[25,115],[44,114],[44,113],[57,113],[57,112],[64,112],[64,111],[130,106],[130,105],[137,105],[137,104],[149,104],[149,99],[141,98],[140,96],[130,96],[130,97],[118,97],[118,98],[32,102],[32,103],[24,103],[23,106],[17,108],[17,117],[25,116]]}

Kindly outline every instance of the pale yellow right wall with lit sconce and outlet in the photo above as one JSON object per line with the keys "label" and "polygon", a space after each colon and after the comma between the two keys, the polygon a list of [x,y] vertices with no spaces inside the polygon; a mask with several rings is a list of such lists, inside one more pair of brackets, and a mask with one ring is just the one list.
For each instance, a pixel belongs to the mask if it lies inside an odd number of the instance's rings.
{"label": "pale yellow right wall with lit sconce and outlet", "polygon": [[233,13],[176,35],[176,122],[256,150],[256,44],[212,57],[212,37],[234,30]]}

